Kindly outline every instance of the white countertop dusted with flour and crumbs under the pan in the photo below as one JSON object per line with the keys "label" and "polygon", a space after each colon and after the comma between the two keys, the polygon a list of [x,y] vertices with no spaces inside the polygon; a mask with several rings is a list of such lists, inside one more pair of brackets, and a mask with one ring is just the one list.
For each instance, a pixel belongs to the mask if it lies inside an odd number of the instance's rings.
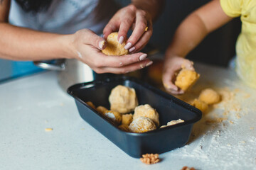
{"label": "white countertop dusted with flour and crumbs under the pan", "polygon": [[196,70],[195,89],[218,89],[225,101],[196,123],[185,147],[160,154],[154,165],[129,157],[82,120],[57,73],[0,84],[0,169],[256,169],[256,91],[227,69]]}

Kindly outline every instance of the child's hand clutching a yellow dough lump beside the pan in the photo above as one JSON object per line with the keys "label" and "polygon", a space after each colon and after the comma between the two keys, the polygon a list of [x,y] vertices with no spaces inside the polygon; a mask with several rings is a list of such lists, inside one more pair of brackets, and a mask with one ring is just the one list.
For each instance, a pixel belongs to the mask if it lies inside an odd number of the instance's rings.
{"label": "child's hand clutching a yellow dough lump beside the pan", "polygon": [[174,81],[176,80],[177,73],[182,69],[195,70],[193,68],[193,62],[186,60],[183,57],[178,56],[166,56],[164,60],[164,71],[163,71],[163,84],[166,91],[171,94],[183,94],[184,91],[178,89],[175,86]]}

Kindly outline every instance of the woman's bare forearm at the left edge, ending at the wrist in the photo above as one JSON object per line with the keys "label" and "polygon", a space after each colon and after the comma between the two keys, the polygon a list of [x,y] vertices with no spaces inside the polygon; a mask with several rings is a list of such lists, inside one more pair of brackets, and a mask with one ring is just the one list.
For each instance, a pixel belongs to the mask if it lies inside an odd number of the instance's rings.
{"label": "woman's bare forearm at the left edge, ending at the wrist", "polygon": [[7,60],[51,60],[70,57],[69,35],[43,33],[0,23],[0,57]]}

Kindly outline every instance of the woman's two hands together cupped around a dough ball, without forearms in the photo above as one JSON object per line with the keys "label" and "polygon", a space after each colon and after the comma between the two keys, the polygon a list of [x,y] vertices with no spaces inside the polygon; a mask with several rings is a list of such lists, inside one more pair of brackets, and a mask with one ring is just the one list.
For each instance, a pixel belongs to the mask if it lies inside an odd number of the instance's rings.
{"label": "woman's two hands together cupped around a dough ball, without forearms", "polygon": [[[132,35],[127,39],[127,32],[132,28]],[[118,30],[117,42],[124,45],[129,55],[110,55],[102,53],[110,33]],[[104,38],[91,30],[78,30],[72,35],[71,46],[73,55],[86,63],[97,73],[125,74],[149,66],[153,62],[146,59],[147,55],[139,52],[149,41],[153,32],[152,19],[148,13],[135,6],[120,9],[104,28]]]}

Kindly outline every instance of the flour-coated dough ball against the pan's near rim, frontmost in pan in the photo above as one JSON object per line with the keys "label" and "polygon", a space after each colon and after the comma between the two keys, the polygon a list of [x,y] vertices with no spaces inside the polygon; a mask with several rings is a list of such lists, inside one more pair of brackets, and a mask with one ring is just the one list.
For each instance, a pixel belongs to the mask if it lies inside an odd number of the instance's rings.
{"label": "flour-coated dough ball against the pan's near rim, frontmost in pan", "polygon": [[156,125],[150,118],[139,117],[134,119],[132,123],[129,125],[129,130],[131,132],[148,132],[150,130],[155,130]]}

